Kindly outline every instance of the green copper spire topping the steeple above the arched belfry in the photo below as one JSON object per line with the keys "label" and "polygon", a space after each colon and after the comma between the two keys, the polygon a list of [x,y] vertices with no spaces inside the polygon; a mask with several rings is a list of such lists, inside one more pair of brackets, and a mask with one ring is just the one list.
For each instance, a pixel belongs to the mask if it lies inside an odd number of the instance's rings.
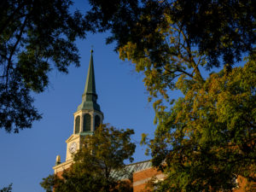
{"label": "green copper spire topping the steeple above the arched belfry", "polygon": [[82,95],[82,103],[79,105],[78,111],[82,109],[94,109],[101,111],[100,106],[96,103],[97,95],[92,53],[93,50],[90,50],[90,63],[84,87],[84,94]]}

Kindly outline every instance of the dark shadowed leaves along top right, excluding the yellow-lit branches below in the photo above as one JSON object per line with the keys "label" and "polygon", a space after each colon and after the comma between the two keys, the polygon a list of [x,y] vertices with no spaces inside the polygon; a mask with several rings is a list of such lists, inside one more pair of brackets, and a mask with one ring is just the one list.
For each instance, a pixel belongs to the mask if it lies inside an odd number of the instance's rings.
{"label": "dark shadowed leaves along top right, excluding the yellow-lit branches below", "polygon": [[[89,2],[93,6],[87,14],[90,24],[100,32],[110,29],[113,36],[108,38],[108,43],[117,41],[117,48],[132,42],[137,44],[136,52],[150,49],[150,56],[154,57],[163,52],[158,29],[179,25],[189,44],[201,55],[207,55],[208,68],[219,67],[220,57],[224,64],[232,66],[254,49],[254,1],[114,0],[111,5],[104,0]],[[172,23],[166,20],[166,15]],[[144,38],[148,36],[155,40],[146,43]]]}

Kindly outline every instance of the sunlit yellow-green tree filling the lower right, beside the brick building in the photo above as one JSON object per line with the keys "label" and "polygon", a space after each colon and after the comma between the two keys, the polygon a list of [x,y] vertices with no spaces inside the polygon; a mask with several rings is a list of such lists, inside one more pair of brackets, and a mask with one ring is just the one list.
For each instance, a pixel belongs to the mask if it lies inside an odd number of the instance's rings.
{"label": "sunlit yellow-green tree filling the lower right, beside the brick building", "polygon": [[204,84],[179,79],[185,96],[159,113],[149,144],[167,175],[159,191],[231,191],[238,176],[256,182],[255,72],[253,59]]}

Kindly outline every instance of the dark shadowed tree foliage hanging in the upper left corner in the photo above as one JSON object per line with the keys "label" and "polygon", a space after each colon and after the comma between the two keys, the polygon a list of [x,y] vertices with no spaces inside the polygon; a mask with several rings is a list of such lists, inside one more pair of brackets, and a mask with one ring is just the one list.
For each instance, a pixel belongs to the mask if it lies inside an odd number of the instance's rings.
{"label": "dark shadowed tree foliage hanging in the upper left corner", "polygon": [[0,3],[0,127],[18,132],[41,119],[31,91],[45,90],[54,67],[67,73],[79,66],[76,38],[86,25],[70,0],[22,0]]}

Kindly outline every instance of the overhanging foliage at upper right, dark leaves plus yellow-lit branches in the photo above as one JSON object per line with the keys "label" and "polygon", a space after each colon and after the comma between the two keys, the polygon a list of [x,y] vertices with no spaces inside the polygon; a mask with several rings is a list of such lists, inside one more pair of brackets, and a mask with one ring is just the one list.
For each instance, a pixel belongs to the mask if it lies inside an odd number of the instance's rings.
{"label": "overhanging foliage at upper right, dark leaves plus yellow-lit branches", "polygon": [[245,54],[253,54],[253,1],[90,3],[93,8],[86,19],[100,32],[111,30],[107,42],[115,41],[120,58],[135,63],[137,72],[145,74],[151,96],[168,97],[166,90],[176,89],[180,75],[202,81],[202,67],[220,67],[222,61],[222,67],[230,69]]}

